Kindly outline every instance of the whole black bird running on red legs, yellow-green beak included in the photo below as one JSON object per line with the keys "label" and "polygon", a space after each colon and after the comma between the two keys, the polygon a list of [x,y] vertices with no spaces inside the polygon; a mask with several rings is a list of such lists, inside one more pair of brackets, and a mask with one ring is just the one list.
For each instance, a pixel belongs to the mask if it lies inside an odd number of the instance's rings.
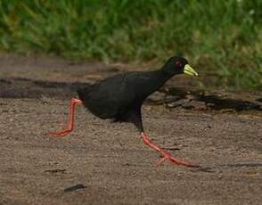
{"label": "whole black bird running on red legs, yellow-green beak included", "polygon": [[70,101],[68,127],[61,132],[48,134],[53,136],[69,134],[73,129],[75,105],[83,103],[89,111],[101,119],[134,123],[141,133],[143,143],[160,152],[162,159],[157,165],[160,165],[164,160],[169,160],[178,165],[198,167],[172,157],[168,152],[153,144],[143,131],[141,106],[145,98],[158,90],[169,78],[182,73],[192,76],[198,75],[183,57],[173,56],[160,70],[121,73],[102,79],[94,85],[78,89],[79,100],[73,98]]}

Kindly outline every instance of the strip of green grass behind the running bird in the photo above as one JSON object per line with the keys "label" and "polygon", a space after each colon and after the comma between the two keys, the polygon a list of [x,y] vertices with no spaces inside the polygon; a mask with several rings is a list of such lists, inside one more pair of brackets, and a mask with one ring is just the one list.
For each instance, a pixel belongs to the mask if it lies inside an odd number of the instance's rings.
{"label": "strip of green grass behind the running bird", "polygon": [[181,53],[219,85],[262,89],[261,0],[2,0],[0,49],[142,63]]}

